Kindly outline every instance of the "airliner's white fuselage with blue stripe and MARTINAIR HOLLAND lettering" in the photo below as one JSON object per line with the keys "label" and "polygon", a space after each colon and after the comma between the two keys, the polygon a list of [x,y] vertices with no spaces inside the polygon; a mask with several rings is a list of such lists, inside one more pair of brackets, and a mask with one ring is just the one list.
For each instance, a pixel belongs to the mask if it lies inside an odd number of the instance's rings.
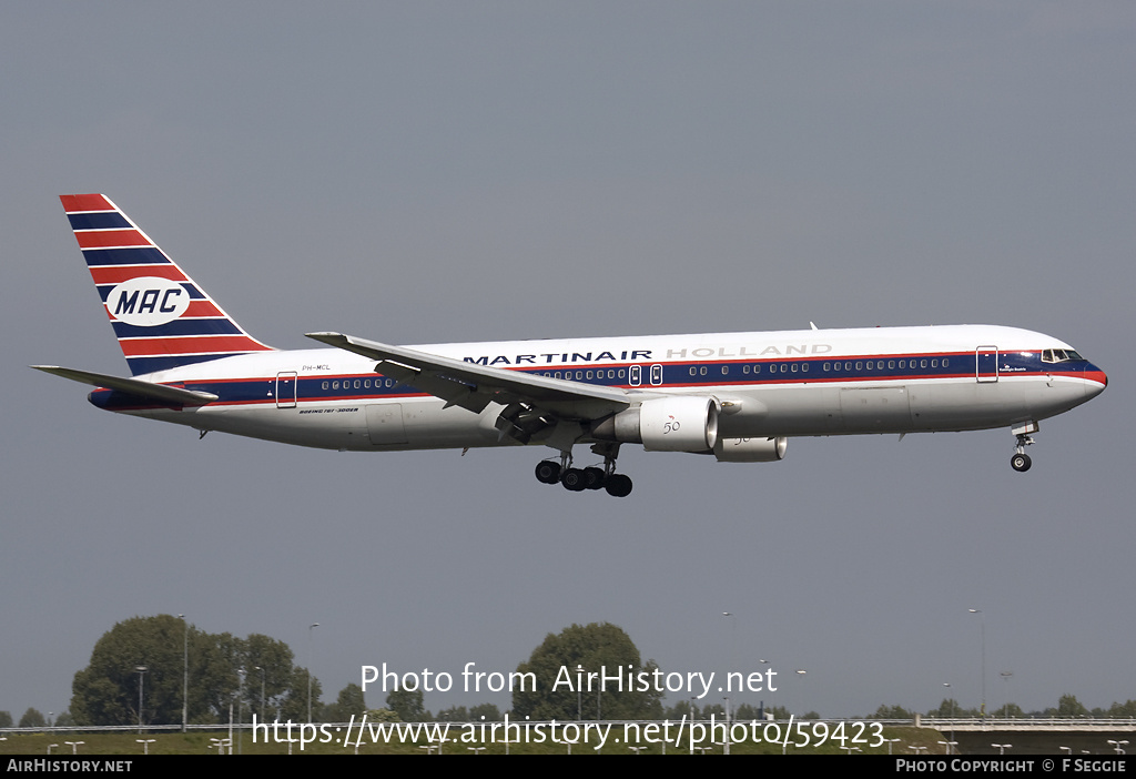
{"label": "airliner's white fuselage with blue stripe and MARTINAIR HOLLAND lettering", "polygon": [[[997,326],[812,329],[510,341],[414,346],[419,352],[629,393],[633,401],[708,395],[722,438],[970,430],[1062,413],[1106,378],[1084,360],[1044,361],[1071,347]],[[1072,352],[1076,354],[1075,352]],[[1079,355],[1078,355],[1079,357]],[[339,450],[516,444],[494,420],[375,372],[336,349],[267,351],[140,378],[218,395],[177,410],[116,397],[92,402],[200,430]],[[586,435],[579,443],[591,441]],[[534,439],[532,443],[543,443]]]}

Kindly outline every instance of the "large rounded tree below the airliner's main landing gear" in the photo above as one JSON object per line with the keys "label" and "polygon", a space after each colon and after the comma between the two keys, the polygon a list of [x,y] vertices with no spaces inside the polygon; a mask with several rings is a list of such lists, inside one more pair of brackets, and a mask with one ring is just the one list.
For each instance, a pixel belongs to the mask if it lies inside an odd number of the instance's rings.
{"label": "large rounded tree below the airliner's main landing gear", "polygon": [[[580,665],[583,675],[576,672]],[[518,673],[533,676],[527,677],[525,689],[515,684],[512,714],[518,720],[575,720],[579,706],[584,719],[659,719],[663,693],[654,689],[652,675],[657,669],[653,660],[645,664],[641,661],[638,650],[621,628],[609,622],[573,625],[559,635],[550,633],[528,661],[517,667]],[[602,673],[609,680],[601,686],[596,676],[590,682],[587,673]],[[640,689],[640,673],[646,675],[646,690]],[[611,677],[620,677],[623,684]]]}

